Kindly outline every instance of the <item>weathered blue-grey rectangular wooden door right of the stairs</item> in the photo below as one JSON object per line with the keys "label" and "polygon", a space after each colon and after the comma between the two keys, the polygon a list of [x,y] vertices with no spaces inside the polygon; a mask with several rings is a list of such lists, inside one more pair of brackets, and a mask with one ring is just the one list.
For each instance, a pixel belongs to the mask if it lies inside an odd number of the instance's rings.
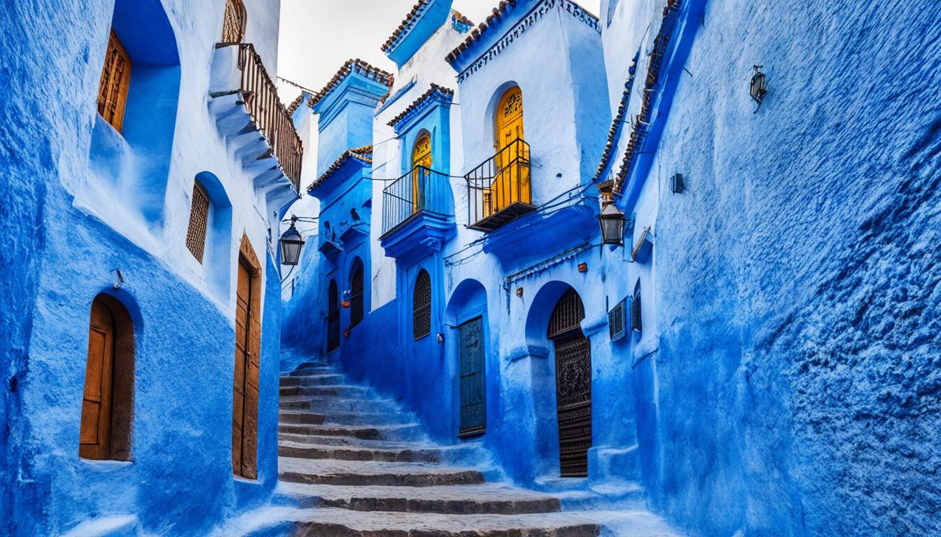
{"label": "weathered blue-grey rectangular wooden door right of the stairs", "polygon": [[484,320],[472,319],[458,328],[461,375],[460,436],[481,434],[486,429],[484,399]]}

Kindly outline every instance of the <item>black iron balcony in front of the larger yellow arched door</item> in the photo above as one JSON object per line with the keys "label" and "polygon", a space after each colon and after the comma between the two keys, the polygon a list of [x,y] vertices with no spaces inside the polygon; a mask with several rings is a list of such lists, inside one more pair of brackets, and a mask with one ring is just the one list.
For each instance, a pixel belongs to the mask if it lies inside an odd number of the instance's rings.
{"label": "black iron balcony in front of the larger yellow arched door", "polygon": [[535,211],[529,144],[520,138],[470,170],[464,179],[470,229],[493,231]]}

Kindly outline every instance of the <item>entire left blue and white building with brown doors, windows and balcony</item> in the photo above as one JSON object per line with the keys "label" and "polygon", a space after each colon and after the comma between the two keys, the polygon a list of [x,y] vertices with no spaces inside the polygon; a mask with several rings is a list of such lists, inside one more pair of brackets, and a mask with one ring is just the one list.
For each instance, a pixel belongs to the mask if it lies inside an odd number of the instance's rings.
{"label": "entire left blue and white building with brown doors, windows and balcony", "polygon": [[204,535],[278,475],[279,2],[0,24],[0,533]]}

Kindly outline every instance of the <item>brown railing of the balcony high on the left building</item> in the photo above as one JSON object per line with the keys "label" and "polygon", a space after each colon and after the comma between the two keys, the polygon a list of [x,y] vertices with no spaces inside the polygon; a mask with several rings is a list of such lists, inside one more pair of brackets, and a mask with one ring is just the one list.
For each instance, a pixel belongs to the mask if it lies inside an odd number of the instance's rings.
{"label": "brown railing of the balcony high on the left building", "polygon": [[274,149],[284,175],[300,189],[300,165],[304,154],[300,136],[278,97],[278,87],[264,70],[262,56],[251,43],[239,45],[238,68],[242,71],[242,96],[248,114]]}

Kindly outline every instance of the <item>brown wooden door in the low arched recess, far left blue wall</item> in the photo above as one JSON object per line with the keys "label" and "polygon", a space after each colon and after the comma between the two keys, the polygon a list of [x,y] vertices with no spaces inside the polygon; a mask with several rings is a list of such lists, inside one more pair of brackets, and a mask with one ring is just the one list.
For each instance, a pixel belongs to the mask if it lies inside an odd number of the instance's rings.
{"label": "brown wooden door in the low arched recess, far left blue wall", "polygon": [[88,324],[88,358],[78,454],[107,459],[111,445],[111,387],[114,374],[115,321],[111,308],[96,298]]}

